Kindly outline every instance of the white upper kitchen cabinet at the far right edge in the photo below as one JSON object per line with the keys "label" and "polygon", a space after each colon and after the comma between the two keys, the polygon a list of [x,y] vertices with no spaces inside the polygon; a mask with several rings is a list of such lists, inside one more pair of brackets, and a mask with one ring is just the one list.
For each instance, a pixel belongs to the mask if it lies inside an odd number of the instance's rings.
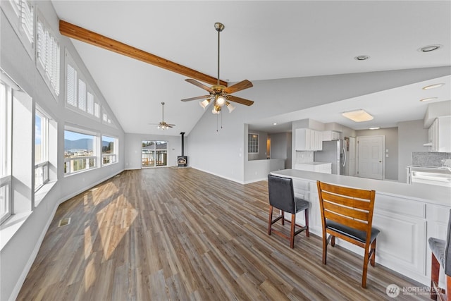
{"label": "white upper kitchen cabinet at the far right edge", "polygon": [[431,152],[451,152],[451,116],[435,118],[428,129],[428,143]]}

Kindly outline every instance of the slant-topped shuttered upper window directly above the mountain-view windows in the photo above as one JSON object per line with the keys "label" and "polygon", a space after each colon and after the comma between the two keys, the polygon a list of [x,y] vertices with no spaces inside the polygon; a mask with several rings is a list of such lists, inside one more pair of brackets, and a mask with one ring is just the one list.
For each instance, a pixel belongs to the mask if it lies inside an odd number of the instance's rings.
{"label": "slant-topped shuttered upper window directly above the mountain-view windows", "polygon": [[[66,107],[100,121],[100,104],[66,51]],[[110,124],[106,117],[106,123]]]}

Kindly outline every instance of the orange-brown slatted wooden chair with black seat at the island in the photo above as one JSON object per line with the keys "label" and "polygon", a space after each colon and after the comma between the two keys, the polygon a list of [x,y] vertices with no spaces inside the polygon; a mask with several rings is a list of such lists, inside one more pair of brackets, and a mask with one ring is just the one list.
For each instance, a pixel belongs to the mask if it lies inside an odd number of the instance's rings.
{"label": "orange-brown slatted wooden chair with black seat at the island", "polygon": [[[375,264],[378,229],[373,222],[374,190],[345,188],[316,182],[318,185],[321,223],[323,224],[323,264],[326,264],[327,245],[335,246],[335,237],[363,247],[364,269],[362,288],[366,288],[368,262]],[[326,235],[329,234],[327,237]]]}

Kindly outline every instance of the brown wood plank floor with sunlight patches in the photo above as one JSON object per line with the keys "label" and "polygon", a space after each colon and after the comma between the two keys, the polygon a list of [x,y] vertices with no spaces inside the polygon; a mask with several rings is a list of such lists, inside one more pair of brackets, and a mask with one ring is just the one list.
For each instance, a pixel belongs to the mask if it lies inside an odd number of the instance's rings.
{"label": "brown wood plank floor with sunlight patches", "polygon": [[423,287],[376,262],[363,289],[361,257],[329,248],[323,265],[319,237],[292,250],[267,219],[266,181],[124,171],[60,205],[18,300],[392,300],[391,283]]}

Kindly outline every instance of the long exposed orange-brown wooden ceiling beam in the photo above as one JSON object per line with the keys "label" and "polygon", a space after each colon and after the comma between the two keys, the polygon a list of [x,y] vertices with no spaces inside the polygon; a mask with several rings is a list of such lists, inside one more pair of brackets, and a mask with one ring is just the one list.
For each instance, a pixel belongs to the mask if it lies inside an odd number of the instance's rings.
{"label": "long exposed orange-brown wooden ceiling beam", "polygon": [[[143,61],[144,63],[149,63],[151,65],[185,75],[188,78],[194,78],[195,80],[200,80],[211,85],[216,85],[218,83],[218,80],[210,75],[200,73],[199,71],[185,67],[178,63],[174,63],[173,61],[168,61],[167,59],[163,59],[154,54],[149,54],[149,52],[137,49],[122,42],[118,42],[115,39],[110,39],[104,35],[99,35],[96,32],[73,25],[64,20],[59,20],[59,32],[61,32],[61,35],[65,35],[66,37],[78,39],[81,42],[92,44],[94,46],[128,56],[132,59],[137,59],[139,61]],[[219,83],[227,87],[227,82],[220,80]]]}

